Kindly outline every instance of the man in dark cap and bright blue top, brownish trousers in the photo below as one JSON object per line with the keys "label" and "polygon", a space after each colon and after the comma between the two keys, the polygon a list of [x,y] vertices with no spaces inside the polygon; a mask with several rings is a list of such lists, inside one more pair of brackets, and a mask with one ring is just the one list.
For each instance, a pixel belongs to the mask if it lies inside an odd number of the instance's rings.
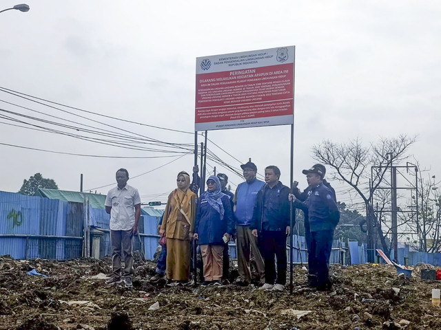
{"label": "man in dark cap and bright blue top, brownish trousers", "polygon": [[234,195],[234,217],[236,219],[236,246],[238,262],[238,285],[248,285],[252,281],[251,270],[249,269],[249,257],[251,254],[256,261],[257,272],[260,276],[260,283],[265,283],[265,267],[263,259],[257,247],[257,239],[253,236],[249,225],[253,221],[254,203],[257,192],[265,182],[256,179],[257,166],[253,162],[247,162],[240,167],[243,169],[245,182],[239,184]]}

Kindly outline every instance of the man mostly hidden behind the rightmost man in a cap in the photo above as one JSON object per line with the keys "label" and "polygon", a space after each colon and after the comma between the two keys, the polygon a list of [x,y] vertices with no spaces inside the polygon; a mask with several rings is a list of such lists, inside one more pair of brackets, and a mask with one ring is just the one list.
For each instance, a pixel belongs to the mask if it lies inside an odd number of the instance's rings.
{"label": "man mostly hidden behind the rightmost man in a cap", "polygon": [[[323,176],[325,176],[325,174],[326,174],[325,166],[323,166],[322,164],[315,164],[313,167],[319,168],[322,171]],[[325,179],[323,179],[322,182],[325,186],[327,186],[327,188],[329,188],[331,190],[332,197],[334,198],[334,201],[337,201],[336,192],[335,192],[334,188],[331,187],[331,184],[329,184],[329,182],[326,181]],[[294,194],[296,199],[298,199],[300,201],[306,201],[309,193],[311,192],[311,189],[312,189],[311,186],[307,186],[307,188],[305,190],[303,190],[303,192],[300,192],[300,189],[298,188],[298,181],[294,181],[293,186],[292,186],[292,193]],[[313,265],[314,256],[310,255],[311,254],[311,228],[309,227],[309,217],[308,217],[307,210],[303,210],[303,218],[305,219],[305,241],[306,241],[306,246],[307,246],[307,250],[308,250],[308,285],[309,285],[309,287],[316,287],[317,286],[317,276],[314,271],[314,265]],[[327,260],[327,262],[329,263],[329,259]]]}

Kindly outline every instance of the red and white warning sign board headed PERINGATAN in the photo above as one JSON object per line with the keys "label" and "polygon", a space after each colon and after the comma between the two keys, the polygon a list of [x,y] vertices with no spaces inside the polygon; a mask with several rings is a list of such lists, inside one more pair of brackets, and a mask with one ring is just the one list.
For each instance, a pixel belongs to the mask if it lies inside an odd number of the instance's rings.
{"label": "red and white warning sign board headed PERINGATAN", "polygon": [[195,131],[293,124],[295,48],[196,58]]}

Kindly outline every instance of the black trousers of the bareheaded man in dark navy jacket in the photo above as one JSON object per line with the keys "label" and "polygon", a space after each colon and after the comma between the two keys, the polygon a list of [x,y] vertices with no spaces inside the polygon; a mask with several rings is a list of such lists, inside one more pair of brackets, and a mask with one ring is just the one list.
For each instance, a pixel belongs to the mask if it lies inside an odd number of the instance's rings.
{"label": "black trousers of the bareheaded man in dark navy jacket", "polygon": [[[285,285],[287,282],[287,235],[285,231],[263,230],[258,235],[258,246],[265,262],[265,283],[276,282]],[[274,257],[277,259],[277,274]]]}

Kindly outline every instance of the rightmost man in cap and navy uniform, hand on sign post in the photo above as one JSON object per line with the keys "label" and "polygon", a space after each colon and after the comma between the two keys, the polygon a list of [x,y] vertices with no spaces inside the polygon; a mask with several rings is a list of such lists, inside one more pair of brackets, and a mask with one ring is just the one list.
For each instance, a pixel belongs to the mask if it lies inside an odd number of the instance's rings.
{"label": "rightmost man in cap and navy uniform, hand on sign post", "polygon": [[[318,164],[320,165],[320,164]],[[308,257],[310,274],[316,274],[316,286],[319,291],[331,289],[332,283],[329,279],[329,256],[332,250],[334,230],[340,219],[340,212],[335,201],[334,193],[323,184],[325,171],[320,166],[312,166],[309,170],[303,170],[307,177],[308,192],[306,201],[302,202],[290,195],[294,206],[306,210],[309,218],[309,230],[311,232],[311,251]]]}

